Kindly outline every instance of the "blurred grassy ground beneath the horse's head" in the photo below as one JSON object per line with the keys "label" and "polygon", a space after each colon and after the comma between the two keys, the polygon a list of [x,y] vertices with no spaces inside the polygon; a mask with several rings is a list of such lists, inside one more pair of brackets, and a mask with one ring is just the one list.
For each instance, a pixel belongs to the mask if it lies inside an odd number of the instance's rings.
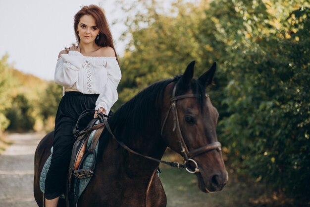
{"label": "blurred grassy ground beneath the horse's head", "polygon": [[[169,152],[163,159],[176,161],[180,158]],[[229,173],[229,181],[222,191],[207,194],[199,190],[196,176],[184,169],[160,165],[160,170],[167,207],[293,207],[283,204],[266,186],[246,175]]]}

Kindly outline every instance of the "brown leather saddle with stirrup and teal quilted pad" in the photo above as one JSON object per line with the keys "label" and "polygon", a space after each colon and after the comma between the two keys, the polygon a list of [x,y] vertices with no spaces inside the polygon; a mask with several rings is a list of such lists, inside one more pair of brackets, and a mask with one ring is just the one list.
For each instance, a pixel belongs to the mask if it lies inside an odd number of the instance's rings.
{"label": "brown leather saddle with stirrup and teal quilted pad", "polygon": [[[93,117],[94,113],[95,110],[93,109],[83,111],[73,129],[73,137],[76,141],[72,148],[66,188],[64,189],[64,196],[62,196],[66,201],[67,207],[76,206],[78,198],[94,175],[98,142],[105,128],[103,119],[106,119],[104,116],[109,117],[100,114],[100,118],[91,119],[88,125],[83,130],[80,130],[81,126],[85,126],[85,124],[80,126],[80,122],[86,119],[89,121],[89,117]],[[46,161],[40,177],[40,189],[43,193],[45,192],[45,179],[51,159],[52,154]],[[83,179],[83,182],[80,182],[81,179]]]}

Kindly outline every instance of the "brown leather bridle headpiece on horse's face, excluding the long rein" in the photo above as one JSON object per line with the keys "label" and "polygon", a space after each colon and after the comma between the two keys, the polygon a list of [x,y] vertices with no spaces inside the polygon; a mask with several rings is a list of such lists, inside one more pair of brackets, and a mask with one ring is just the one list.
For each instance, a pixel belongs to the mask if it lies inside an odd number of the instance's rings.
{"label": "brown leather bridle headpiece on horse's face, excluding the long rein", "polygon": [[[166,121],[168,119],[168,116],[170,114],[170,112],[172,113],[173,116],[173,129],[172,131],[174,132],[175,130],[177,130],[177,136],[178,136],[178,143],[180,144],[180,148],[181,148],[181,154],[182,157],[184,158],[184,165],[185,165],[185,169],[189,172],[189,173],[197,173],[200,172],[199,168],[198,168],[198,164],[197,162],[194,160],[194,157],[199,155],[199,154],[203,154],[206,152],[209,152],[213,149],[216,149],[217,151],[221,151],[221,143],[218,141],[215,141],[213,143],[207,144],[205,146],[199,147],[197,149],[193,149],[191,151],[188,150],[188,147],[185,143],[185,140],[182,136],[182,132],[181,132],[181,128],[180,128],[180,122],[179,122],[179,117],[178,117],[178,111],[177,111],[177,107],[176,107],[176,102],[180,99],[184,99],[184,98],[198,98],[198,95],[196,94],[185,94],[185,95],[180,95],[180,96],[175,96],[175,92],[176,92],[176,88],[177,88],[177,84],[174,85],[173,88],[173,92],[172,92],[172,97],[170,99],[171,101],[171,105],[169,107],[169,110],[167,112],[167,115],[162,123],[162,127],[161,127],[161,137],[162,133],[163,133],[163,129],[165,127]],[[206,97],[208,97],[207,93],[206,93]],[[195,170],[191,171],[190,169],[187,168],[187,165],[189,162],[193,162],[195,164]]]}

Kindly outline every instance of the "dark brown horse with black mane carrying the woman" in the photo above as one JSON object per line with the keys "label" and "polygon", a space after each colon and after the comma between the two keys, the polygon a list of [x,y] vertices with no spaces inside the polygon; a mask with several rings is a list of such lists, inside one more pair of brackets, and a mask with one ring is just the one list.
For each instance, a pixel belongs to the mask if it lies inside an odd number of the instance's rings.
{"label": "dark brown horse with black mane carrying the woman", "polygon": [[[107,119],[110,132],[103,130],[95,175],[77,207],[166,207],[156,160],[167,147],[183,156],[186,170],[197,176],[201,191],[223,189],[228,174],[215,130],[219,115],[206,93],[216,63],[198,79],[193,78],[194,65],[195,61],[183,74],[145,88]],[[40,174],[51,154],[52,140],[53,132],[35,152],[34,196],[39,207],[44,202]],[[59,202],[58,207],[64,206]]]}

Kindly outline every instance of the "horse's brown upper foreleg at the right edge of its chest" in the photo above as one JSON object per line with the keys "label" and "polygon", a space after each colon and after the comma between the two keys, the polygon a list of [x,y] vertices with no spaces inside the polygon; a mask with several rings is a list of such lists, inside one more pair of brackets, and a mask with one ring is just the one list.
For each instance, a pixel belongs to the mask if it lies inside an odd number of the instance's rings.
{"label": "horse's brown upper foreleg at the right edge of its chest", "polygon": [[158,175],[154,173],[147,191],[146,207],[166,207],[166,206],[167,206],[167,198],[165,191],[163,190]]}

